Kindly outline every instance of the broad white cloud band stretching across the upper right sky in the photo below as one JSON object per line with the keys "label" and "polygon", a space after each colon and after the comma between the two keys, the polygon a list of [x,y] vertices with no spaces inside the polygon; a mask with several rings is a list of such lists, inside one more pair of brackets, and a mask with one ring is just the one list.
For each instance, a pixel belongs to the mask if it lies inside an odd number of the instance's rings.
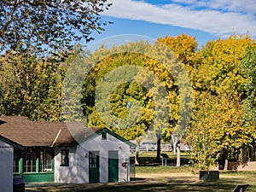
{"label": "broad white cloud band stretching across the upper right sky", "polygon": [[254,0],[173,0],[175,3],[158,6],[132,0],[111,2],[113,6],[103,15],[181,26],[217,35],[250,32],[256,36]]}

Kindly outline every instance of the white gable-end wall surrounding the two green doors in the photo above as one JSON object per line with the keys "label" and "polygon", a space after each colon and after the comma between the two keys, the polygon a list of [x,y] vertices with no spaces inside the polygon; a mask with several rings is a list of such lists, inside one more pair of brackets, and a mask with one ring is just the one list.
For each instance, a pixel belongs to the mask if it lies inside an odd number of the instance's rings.
{"label": "white gable-end wall surrounding the two green doors", "polygon": [[[108,183],[108,151],[119,151],[119,182],[130,181],[130,168],[122,163],[129,161],[130,146],[116,137],[107,134],[107,140],[96,136],[79,145],[77,148],[77,178],[78,183],[89,183],[89,151],[99,151],[100,155],[100,183]],[[85,177],[84,177],[85,176]]]}

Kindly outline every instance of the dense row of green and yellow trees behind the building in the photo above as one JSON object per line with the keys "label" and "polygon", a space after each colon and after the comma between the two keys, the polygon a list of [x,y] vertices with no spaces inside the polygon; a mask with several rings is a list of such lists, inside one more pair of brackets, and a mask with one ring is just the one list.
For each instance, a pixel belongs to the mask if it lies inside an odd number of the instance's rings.
{"label": "dense row of green and yellow trees behind the building", "polygon": [[[158,43],[165,44],[177,55],[193,89],[192,117],[183,137],[173,134],[178,129],[182,104],[177,80],[159,61],[148,56],[157,55],[157,47],[152,47]],[[255,144],[255,49],[255,40],[248,35],[218,38],[201,49],[196,39],[186,34],[158,38],[154,45],[137,42],[112,48],[102,46],[81,57],[98,61],[84,79],[81,91],[84,119],[90,127],[108,127],[127,139],[140,141],[138,138],[151,130],[159,141],[162,138],[178,146],[183,140],[192,147],[191,160],[201,168],[212,165],[220,155],[228,160],[230,148]],[[113,52],[119,54],[111,54]],[[61,108],[63,79],[69,65],[80,55],[80,49],[75,49],[67,61],[51,62],[20,52],[3,54],[0,58],[0,113],[23,115],[32,120],[65,120]],[[172,54],[170,58],[173,60],[166,63],[172,67],[176,60]],[[124,64],[137,67],[125,71],[121,68]],[[160,79],[167,92],[170,106],[166,110],[168,119],[165,119],[168,125],[164,127],[161,122],[152,124],[154,115],[160,113],[154,101],[154,88],[162,87],[154,85],[154,80],[148,81],[151,76],[142,75],[140,67]],[[119,71],[115,73],[115,69]],[[104,103],[96,99],[96,89],[102,89],[100,84],[107,86],[108,80],[118,83],[131,73],[134,73],[134,81],[118,84],[109,98],[109,113],[121,120],[114,121],[110,117],[102,120],[104,114],[97,110],[96,104],[103,106]],[[157,102],[165,102],[165,99]],[[137,110],[137,105],[141,111]],[[131,113],[137,119],[125,121]]]}

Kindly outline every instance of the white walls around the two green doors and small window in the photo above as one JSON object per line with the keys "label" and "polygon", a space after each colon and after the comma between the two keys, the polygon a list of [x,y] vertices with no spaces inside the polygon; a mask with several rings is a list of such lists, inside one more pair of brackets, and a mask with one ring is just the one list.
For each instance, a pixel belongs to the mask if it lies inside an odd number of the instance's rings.
{"label": "white walls around the two green doors and small window", "polygon": [[[69,166],[61,166],[61,149],[70,149]],[[100,183],[108,183],[108,151],[119,151],[119,182],[130,181],[130,146],[107,133],[107,140],[96,135],[77,148],[55,148],[55,183],[89,183],[89,151],[99,151]]]}

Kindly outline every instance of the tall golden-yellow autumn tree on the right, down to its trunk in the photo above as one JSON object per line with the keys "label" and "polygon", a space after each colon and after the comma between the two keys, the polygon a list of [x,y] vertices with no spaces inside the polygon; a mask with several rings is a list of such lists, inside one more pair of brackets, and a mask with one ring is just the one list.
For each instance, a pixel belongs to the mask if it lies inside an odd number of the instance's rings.
{"label": "tall golden-yellow autumn tree on the right, down to its trunk", "polygon": [[[201,126],[203,136],[210,137],[212,143],[218,143],[218,149],[224,152],[225,169],[228,167],[230,148],[240,148],[252,142],[250,131],[253,132],[253,127],[244,124],[241,109],[241,102],[245,97],[243,84],[247,82],[241,71],[241,61],[250,44],[254,44],[254,40],[248,35],[231,35],[229,38],[210,41],[201,49],[202,63],[198,67],[198,78],[195,79],[197,85],[195,103],[202,103],[202,105],[195,108],[194,113],[201,114],[202,119],[196,120],[195,115],[188,134],[193,135],[193,132],[198,129],[197,126]],[[200,94],[207,94],[207,98],[198,96]],[[203,111],[207,108],[203,103],[208,103],[212,108],[209,108],[208,112]],[[203,113],[207,114],[205,119]],[[199,136],[201,136],[200,133]],[[211,146],[211,144],[208,145]],[[199,149],[198,145],[197,149]],[[196,146],[192,148],[192,152],[193,150],[196,151]],[[211,152],[205,148],[200,150],[201,155],[206,154],[205,157],[211,157]]]}

